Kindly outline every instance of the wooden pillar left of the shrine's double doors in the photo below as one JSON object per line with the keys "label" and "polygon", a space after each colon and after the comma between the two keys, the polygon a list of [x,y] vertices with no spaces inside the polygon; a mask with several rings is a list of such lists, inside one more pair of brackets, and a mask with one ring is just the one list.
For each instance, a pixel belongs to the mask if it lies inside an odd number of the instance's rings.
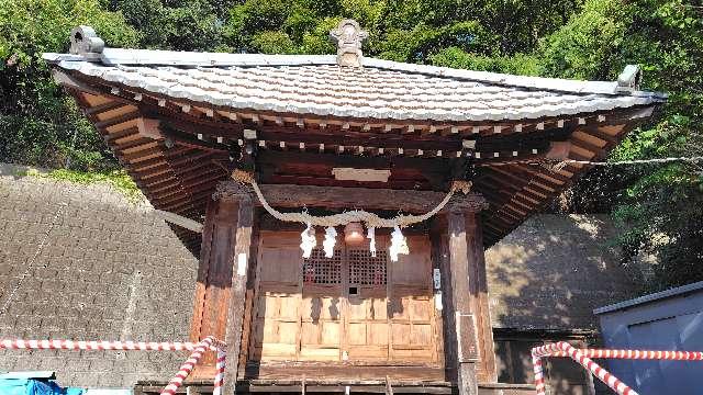
{"label": "wooden pillar left of the shrine's double doors", "polygon": [[[253,222],[249,192],[234,182],[219,185],[205,213],[190,338],[198,341],[212,335],[227,342],[225,380],[232,385],[238,369],[247,269],[255,261],[250,260]],[[193,379],[213,379],[214,364],[215,354],[207,353]]]}

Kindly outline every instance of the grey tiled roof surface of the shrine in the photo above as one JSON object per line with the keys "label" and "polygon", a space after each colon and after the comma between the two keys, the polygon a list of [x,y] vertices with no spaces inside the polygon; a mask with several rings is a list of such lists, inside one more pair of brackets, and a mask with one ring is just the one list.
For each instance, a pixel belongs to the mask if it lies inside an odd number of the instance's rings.
{"label": "grey tiled roof surface of the shrine", "polygon": [[[167,66],[174,64],[171,57],[188,59],[189,65]],[[175,99],[316,116],[513,121],[663,100],[659,94],[618,90],[617,82],[507,76],[373,58],[362,58],[360,68],[337,66],[334,56],[185,56],[109,48],[99,61],[75,55],[46,54],[45,58],[65,70]]]}

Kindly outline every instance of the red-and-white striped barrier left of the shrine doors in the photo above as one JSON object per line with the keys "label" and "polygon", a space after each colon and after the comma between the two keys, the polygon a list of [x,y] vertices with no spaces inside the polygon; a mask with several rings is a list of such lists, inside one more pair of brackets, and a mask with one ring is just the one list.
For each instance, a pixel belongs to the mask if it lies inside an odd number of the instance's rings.
{"label": "red-and-white striped barrier left of the shrine doors", "polygon": [[22,340],[22,339],[0,339],[0,349],[8,350],[121,350],[121,351],[192,351],[188,360],[180,366],[180,370],[168,385],[161,391],[163,395],[174,395],[182,385],[183,380],[205,351],[216,351],[216,373],[214,377],[213,395],[222,394],[224,384],[224,370],[226,360],[226,345],[212,336],[200,342],[176,341],[176,342],[152,342],[152,341],[75,341],[75,340]]}

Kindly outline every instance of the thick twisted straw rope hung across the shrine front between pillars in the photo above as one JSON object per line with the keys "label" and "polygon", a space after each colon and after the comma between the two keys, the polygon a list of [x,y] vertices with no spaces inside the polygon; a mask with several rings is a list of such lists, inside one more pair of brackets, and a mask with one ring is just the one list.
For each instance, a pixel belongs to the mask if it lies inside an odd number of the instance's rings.
{"label": "thick twisted straw rope hung across the shrine front between pillars", "polygon": [[434,216],[435,214],[437,214],[442,208],[444,208],[445,205],[447,205],[447,203],[449,203],[449,200],[451,199],[451,196],[456,191],[460,190],[464,193],[468,193],[471,188],[470,181],[454,181],[451,184],[451,188],[449,189],[449,192],[447,192],[446,196],[444,196],[442,202],[439,202],[439,204],[437,204],[436,207],[434,207],[433,210],[422,215],[400,214],[394,218],[381,218],[373,213],[369,213],[362,210],[353,210],[353,211],[348,211],[339,214],[314,216],[309,214],[308,212],[281,213],[278,210],[271,207],[266,201],[266,198],[261,193],[261,190],[259,189],[259,185],[256,183],[256,180],[254,179],[254,177],[252,177],[252,174],[247,172],[235,170],[232,172],[232,178],[236,181],[252,184],[252,187],[254,188],[254,192],[256,193],[257,198],[261,202],[261,205],[264,206],[264,208],[269,214],[271,214],[275,218],[284,221],[284,222],[297,222],[301,224],[310,224],[313,226],[325,226],[325,227],[341,226],[341,225],[346,225],[353,222],[366,223],[368,227],[375,227],[375,228],[378,228],[378,227],[393,228],[397,226],[406,227],[406,226],[426,221],[432,216]]}

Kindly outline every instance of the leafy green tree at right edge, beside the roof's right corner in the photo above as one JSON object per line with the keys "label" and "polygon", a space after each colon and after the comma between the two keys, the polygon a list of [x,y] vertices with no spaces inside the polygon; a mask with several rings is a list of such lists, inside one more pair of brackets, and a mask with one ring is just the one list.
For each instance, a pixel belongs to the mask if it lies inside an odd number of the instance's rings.
{"label": "leafy green tree at right edge, beside the roof's right corner", "polygon": [[[703,155],[702,11],[681,0],[589,0],[542,42],[546,75],[613,80],[633,63],[644,69],[645,89],[669,93],[659,122],[634,131],[612,160]],[[625,262],[658,258],[649,290],[703,280],[700,162],[599,169],[576,190],[578,200],[615,203]]]}

